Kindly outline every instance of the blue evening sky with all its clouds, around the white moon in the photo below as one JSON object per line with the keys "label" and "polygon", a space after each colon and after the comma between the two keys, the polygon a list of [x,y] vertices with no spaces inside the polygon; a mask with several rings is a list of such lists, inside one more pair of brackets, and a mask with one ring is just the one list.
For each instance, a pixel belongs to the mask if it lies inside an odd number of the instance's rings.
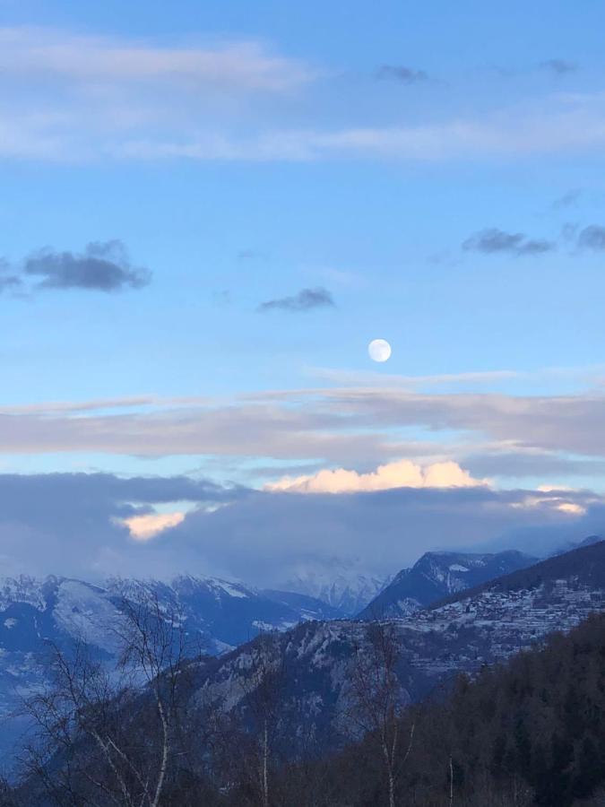
{"label": "blue evening sky with all its clouds, around the white moon", "polygon": [[0,0],[5,568],[602,532],[604,23]]}

